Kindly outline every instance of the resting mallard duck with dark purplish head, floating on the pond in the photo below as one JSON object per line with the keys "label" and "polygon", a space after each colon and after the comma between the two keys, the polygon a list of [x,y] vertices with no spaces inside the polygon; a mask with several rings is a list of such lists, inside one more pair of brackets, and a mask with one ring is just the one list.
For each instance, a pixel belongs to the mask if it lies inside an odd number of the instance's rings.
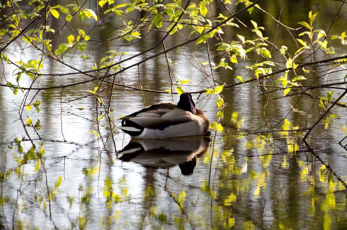
{"label": "resting mallard duck with dark purplish head, floating on the pond", "polygon": [[195,107],[192,95],[181,93],[177,105],[162,102],[120,117],[121,129],[135,139],[211,135],[206,114]]}

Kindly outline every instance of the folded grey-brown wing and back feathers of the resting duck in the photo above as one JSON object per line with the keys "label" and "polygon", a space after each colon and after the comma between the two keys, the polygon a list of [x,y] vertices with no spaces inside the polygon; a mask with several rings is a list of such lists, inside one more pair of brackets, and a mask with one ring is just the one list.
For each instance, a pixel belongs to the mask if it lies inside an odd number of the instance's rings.
{"label": "folded grey-brown wing and back feathers of the resting duck", "polygon": [[194,115],[174,103],[159,103],[119,119],[135,122],[147,129],[160,129],[192,121]]}

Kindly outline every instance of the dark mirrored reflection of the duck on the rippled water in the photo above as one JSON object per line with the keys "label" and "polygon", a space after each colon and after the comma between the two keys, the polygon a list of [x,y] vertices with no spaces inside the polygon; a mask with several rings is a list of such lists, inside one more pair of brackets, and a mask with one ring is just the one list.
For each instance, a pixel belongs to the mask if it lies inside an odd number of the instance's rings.
{"label": "dark mirrored reflection of the duck on the rippled water", "polygon": [[119,159],[124,162],[155,169],[178,165],[182,174],[190,175],[196,165],[196,157],[206,153],[210,141],[209,136],[131,139],[118,154],[122,154]]}

